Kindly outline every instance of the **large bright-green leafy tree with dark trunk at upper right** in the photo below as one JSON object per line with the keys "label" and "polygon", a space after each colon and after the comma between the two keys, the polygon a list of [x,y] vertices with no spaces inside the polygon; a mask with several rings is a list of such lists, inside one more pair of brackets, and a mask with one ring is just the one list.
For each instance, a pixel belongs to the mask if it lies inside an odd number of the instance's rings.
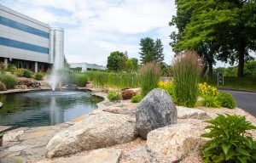
{"label": "large bright-green leafy tree with dark trunk at upper right", "polygon": [[[189,21],[173,37],[176,50],[198,50],[207,45],[212,54],[232,65],[238,61],[237,76],[243,76],[248,50],[256,50],[256,3],[252,0],[177,0],[177,11],[189,14]],[[172,23],[177,21],[172,21]],[[172,24],[171,23],[171,24]],[[213,58],[214,59],[214,58]]]}

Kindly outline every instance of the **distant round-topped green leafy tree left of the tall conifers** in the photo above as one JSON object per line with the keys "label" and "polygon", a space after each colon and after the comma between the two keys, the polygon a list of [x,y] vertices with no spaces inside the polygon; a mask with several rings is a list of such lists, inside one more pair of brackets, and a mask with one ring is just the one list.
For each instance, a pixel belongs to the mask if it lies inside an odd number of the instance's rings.
{"label": "distant round-topped green leafy tree left of the tall conifers", "polygon": [[125,69],[125,54],[119,51],[110,53],[108,56],[108,70],[120,71]]}

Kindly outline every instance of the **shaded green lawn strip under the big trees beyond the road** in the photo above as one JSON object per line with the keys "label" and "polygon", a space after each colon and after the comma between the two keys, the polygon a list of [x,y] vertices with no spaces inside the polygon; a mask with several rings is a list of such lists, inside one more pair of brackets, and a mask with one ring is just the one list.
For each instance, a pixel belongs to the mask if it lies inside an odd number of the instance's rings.
{"label": "shaded green lawn strip under the big trees beyond the road", "polygon": [[218,88],[228,88],[246,91],[256,91],[256,79],[253,78],[240,78],[240,77],[224,77],[224,86],[220,84],[218,86],[217,77],[208,77],[208,79],[201,79],[201,82],[207,82],[207,84],[218,87]]}

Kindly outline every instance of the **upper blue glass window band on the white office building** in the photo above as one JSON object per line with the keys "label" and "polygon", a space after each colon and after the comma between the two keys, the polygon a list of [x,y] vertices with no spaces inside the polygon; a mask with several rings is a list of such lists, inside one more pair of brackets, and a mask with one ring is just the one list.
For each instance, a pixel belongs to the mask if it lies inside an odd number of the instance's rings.
{"label": "upper blue glass window band on the white office building", "polygon": [[15,28],[16,30],[26,31],[33,35],[37,35],[39,37],[44,37],[44,38],[49,39],[49,33],[45,32],[45,31],[40,31],[40,30],[33,28],[31,26],[28,26],[28,25],[21,24],[14,20],[9,20],[8,18],[4,18],[3,16],[0,16],[0,24]]}

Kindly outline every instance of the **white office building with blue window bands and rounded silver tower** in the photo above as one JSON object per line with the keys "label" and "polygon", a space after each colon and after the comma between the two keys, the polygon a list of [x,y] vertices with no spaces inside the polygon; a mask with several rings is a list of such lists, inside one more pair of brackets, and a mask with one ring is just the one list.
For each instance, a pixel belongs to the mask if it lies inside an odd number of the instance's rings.
{"label": "white office building with blue window bands and rounded silver tower", "polygon": [[0,62],[34,72],[64,65],[64,29],[0,5]]}

